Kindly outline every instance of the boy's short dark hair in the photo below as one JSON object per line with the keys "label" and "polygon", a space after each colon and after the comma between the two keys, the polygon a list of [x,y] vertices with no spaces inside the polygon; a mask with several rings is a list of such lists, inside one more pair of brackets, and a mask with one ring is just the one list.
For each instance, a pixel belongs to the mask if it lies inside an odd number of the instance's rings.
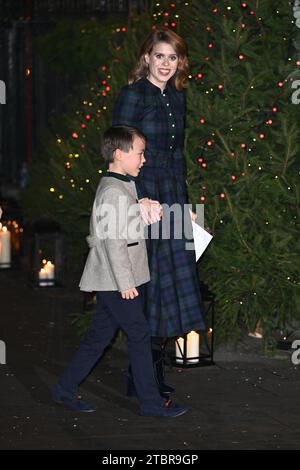
{"label": "boy's short dark hair", "polygon": [[102,139],[102,157],[104,161],[112,163],[114,161],[114,152],[117,149],[123,152],[129,152],[133,148],[133,140],[140,137],[146,142],[146,136],[135,127],[131,126],[111,126],[103,134]]}

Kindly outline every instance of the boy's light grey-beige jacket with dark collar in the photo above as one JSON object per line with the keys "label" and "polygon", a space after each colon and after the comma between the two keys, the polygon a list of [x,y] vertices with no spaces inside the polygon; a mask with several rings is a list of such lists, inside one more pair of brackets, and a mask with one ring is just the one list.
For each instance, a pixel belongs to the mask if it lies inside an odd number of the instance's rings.
{"label": "boy's light grey-beige jacket with dark collar", "polygon": [[[101,178],[90,219],[90,251],[80,290],[121,292],[150,280],[144,222],[137,202],[135,183],[129,177],[107,172]],[[111,231],[115,233],[114,239],[107,236],[108,231],[110,235]]]}

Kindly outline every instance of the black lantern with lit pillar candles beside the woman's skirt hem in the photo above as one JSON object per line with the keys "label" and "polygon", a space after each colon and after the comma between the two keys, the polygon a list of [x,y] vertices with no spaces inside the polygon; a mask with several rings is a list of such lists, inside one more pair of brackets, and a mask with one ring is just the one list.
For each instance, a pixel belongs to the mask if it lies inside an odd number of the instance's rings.
{"label": "black lantern with lit pillar candles beside the woman's skirt hem", "polygon": [[176,367],[201,367],[214,365],[214,316],[215,295],[205,284],[200,284],[205,330],[190,331],[175,339],[175,356],[172,364]]}

